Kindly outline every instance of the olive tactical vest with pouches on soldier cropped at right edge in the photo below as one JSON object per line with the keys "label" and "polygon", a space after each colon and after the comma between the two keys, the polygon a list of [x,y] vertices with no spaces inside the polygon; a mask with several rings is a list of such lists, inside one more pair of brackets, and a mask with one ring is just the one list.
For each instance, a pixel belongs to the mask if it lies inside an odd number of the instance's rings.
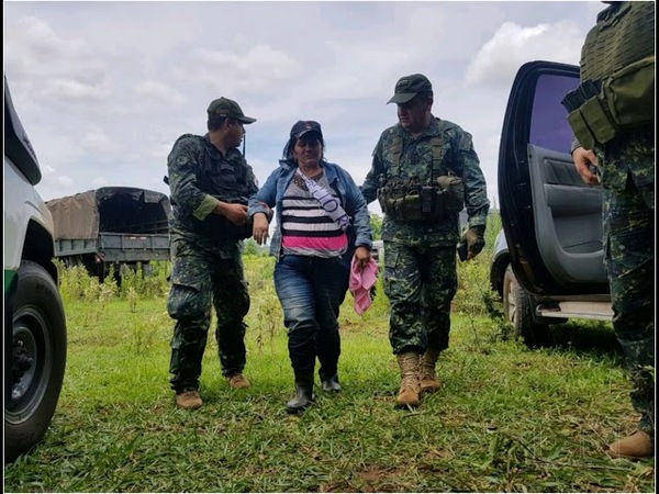
{"label": "olive tactical vest with pouches on soldier cropped at right edge", "polygon": [[581,85],[566,94],[568,122],[585,149],[655,121],[655,3],[604,10],[581,52]]}

